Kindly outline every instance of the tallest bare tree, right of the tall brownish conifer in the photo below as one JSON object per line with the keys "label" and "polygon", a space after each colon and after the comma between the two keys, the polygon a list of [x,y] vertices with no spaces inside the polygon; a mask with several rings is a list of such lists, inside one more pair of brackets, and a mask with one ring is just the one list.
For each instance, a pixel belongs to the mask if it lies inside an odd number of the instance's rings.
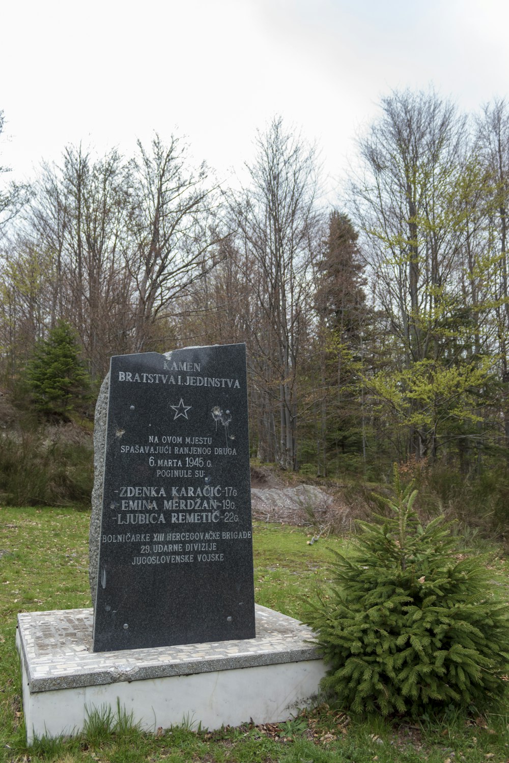
{"label": "tallest bare tree, right of the tall brownish conifer", "polygon": [[[449,320],[461,306],[462,240],[452,202],[465,140],[465,118],[452,104],[409,91],[382,98],[382,116],[360,140],[364,175],[352,184],[353,210],[372,288],[406,369],[443,356]],[[416,425],[410,451],[420,459],[429,447],[429,433]]]}

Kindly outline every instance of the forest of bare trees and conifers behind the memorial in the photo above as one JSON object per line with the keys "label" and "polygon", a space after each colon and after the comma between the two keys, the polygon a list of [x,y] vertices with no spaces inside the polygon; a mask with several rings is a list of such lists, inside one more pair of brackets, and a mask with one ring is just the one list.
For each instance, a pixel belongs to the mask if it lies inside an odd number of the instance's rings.
{"label": "forest of bare trees and conifers behind the memorial", "polygon": [[[280,117],[237,188],[157,134],[135,156],[66,146],[30,185],[6,181],[0,384],[14,404],[34,426],[36,409],[84,423],[111,355],[245,342],[253,458],[361,485],[397,461],[443,504],[469,491],[501,530],[509,107],[391,92],[358,148],[335,208],[316,146]],[[81,370],[55,398],[40,374],[73,341]]]}

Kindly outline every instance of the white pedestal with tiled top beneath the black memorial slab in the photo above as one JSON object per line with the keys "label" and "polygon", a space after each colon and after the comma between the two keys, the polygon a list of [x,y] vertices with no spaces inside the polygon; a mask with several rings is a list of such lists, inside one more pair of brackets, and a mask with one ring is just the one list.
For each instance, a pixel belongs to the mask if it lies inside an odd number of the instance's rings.
{"label": "white pedestal with tiled top beneath the black memorial slab", "polygon": [[[100,654],[82,638],[91,617],[92,610],[18,616],[28,744],[77,733],[87,711],[115,712],[118,703],[149,731],[183,720],[208,729],[277,723],[317,694],[325,673],[309,630],[265,607],[256,607],[256,639]],[[77,626],[69,630],[69,621]]]}

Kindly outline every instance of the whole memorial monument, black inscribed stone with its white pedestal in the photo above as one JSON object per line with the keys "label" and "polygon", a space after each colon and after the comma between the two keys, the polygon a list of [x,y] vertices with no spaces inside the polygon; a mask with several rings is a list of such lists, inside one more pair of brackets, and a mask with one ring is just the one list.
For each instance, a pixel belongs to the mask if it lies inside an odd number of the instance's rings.
{"label": "whole memorial monument, black inscribed stone with its white pedestal", "polygon": [[27,742],[93,708],[154,731],[307,704],[325,673],[311,629],[253,600],[244,346],[115,356],[94,446],[94,610],[18,614]]}

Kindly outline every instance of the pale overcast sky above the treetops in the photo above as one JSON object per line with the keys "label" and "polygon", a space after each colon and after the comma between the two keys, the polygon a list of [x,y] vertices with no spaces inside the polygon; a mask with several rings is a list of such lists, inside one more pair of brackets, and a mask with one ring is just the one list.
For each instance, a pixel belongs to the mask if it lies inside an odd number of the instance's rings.
{"label": "pale overcast sky above the treetops", "polygon": [[153,130],[226,178],[282,114],[340,188],[391,89],[433,86],[465,110],[509,95],[507,0],[0,0],[0,20],[16,179],[69,143],[133,153]]}

